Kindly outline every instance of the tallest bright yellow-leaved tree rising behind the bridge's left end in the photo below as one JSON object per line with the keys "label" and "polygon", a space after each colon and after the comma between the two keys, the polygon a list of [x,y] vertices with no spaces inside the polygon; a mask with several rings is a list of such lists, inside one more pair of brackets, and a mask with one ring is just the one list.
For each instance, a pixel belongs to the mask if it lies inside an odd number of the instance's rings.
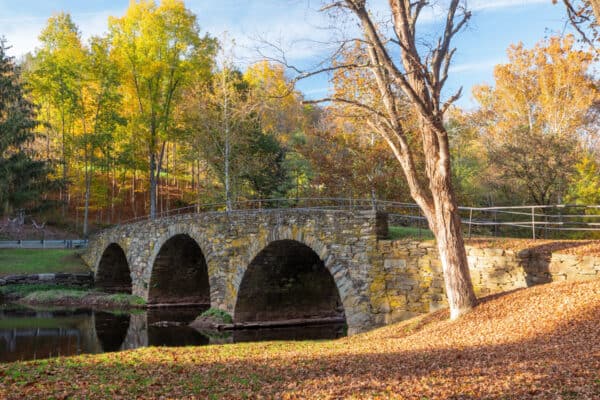
{"label": "tallest bright yellow-leaved tree rising behind the bridge's left end", "polygon": [[146,150],[154,218],[173,110],[191,74],[210,69],[214,41],[200,37],[196,16],[181,0],[132,2],[123,17],[110,18],[109,31],[124,74],[128,123]]}

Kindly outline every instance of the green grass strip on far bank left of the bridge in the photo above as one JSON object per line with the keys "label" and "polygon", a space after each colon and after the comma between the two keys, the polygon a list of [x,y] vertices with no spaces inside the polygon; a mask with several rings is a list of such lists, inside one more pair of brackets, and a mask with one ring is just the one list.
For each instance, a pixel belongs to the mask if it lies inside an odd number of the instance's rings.
{"label": "green grass strip on far bank left of the bridge", "polygon": [[89,272],[77,250],[1,249],[0,277],[14,274]]}

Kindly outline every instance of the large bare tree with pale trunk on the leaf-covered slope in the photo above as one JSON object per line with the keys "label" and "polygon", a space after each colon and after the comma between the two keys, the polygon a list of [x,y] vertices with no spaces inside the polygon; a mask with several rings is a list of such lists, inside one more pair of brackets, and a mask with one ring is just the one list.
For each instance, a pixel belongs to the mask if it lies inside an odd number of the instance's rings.
{"label": "large bare tree with pale trunk on the leaf-covered slope", "polygon": [[[452,39],[465,26],[471,13],[459,0],[443,6],[445,21],[441,36],[424,44],[427,34],[418,28],[422,11],[430,5],[426,0],[390,0],[390,26],[374,19],[366,0],[329,2],[324,10],[353,18],[360,27],[360,38],[343,41],[342,47],[357,41],[364,62],[333,63],[321,72],[367,69],[370,72],[369,101],[377,101],[373,109],[361,99],[332,96],[323,101],[353,104],[368,115],[367,124],[388,144],[402,166],[411,196],[427,218],[437,239],[444,272],[451,318],[457,318],[476,303],[461,233],[461,221],[452,186],[451,157],[444,114],[458,98],[456,93],[445,101],[442,89],[454,50]],[[337,17],[340,17],[339,15]],[[340,52],[336,52],[339,54]],[[312,76],[319,71],[301,74]],[[416,119],[416,140],[411,140],[405,116],[408,105]],[[417,170],[417,153],[424,156],[424,173]]]}

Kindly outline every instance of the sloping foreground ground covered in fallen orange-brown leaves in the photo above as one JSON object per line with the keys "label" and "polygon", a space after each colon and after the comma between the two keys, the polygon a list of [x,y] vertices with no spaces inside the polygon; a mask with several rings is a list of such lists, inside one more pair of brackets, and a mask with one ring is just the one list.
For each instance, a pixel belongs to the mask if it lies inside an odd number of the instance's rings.
{"label": "sloping foreground ground covered in fallen orange-brown leaves", "polygon": [[600,281],[487,298],[326,342],[145,348],[0,365],[0,397],[600,399]]}

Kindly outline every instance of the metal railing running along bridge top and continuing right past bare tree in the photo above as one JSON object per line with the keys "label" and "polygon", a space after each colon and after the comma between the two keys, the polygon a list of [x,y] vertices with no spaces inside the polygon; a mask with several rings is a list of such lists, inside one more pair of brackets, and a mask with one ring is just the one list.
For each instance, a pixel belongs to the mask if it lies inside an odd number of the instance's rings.
{"label": "metal railing running along bridge top and continuing right past bare tree", "polygon": [[[282,209],[307,210],[379,210],[387,212],[394,222],[407,226],[427,228],[427,221],[414,203],[363,198],[274,198],[236,201],[230,204],[205,203],[157,213],[155,218],[204,212],[277,211]],[[465,234],[524,236],[536,239],[549,232],[600,232],[600,205],[525,205],[505,207],[459,207]],[[148,215],[121,221],[134,223],[150,219]]]}

